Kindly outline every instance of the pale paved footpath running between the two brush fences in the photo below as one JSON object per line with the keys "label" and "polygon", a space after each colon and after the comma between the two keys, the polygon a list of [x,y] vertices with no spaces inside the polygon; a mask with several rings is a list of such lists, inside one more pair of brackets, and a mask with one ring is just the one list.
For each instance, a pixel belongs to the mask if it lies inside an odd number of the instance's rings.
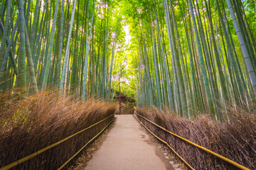
{"label": "pale paved footpath running between the two brush fences", "polygon": [[173,169],[134,115],[115,115],[114,128],[85,170]]}

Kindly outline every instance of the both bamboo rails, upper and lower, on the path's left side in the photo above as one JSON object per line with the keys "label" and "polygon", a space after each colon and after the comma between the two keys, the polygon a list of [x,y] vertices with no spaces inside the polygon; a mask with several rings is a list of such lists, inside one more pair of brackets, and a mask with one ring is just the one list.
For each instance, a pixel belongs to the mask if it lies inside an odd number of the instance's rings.
{"label": "both bamboo rails, upper and lower, on the path's left side", "polygon": [[[50,148],[52,148],[52,147],[55,147],[56,145],[59,145],[59,144],[65,142],[66,140],[70,139],[71,137],[74,137],[75,135],[78,135],[78,134],[80,134],[81,132],[84,132],[85,130],[88,130],[88,129],[94,127],[95,125],[97,125],[97,124],[99,124],[99,123],[102,123],[104,120],[107,120],[108,118],[112,117],[113,115],[114,115],[114,114],[108,116],[108,117],[105,118],[105,119],[100,120],[99,122],[97,122],[97,123],[95,123],[95,124],[93,124],[93,125],[90,125],[89,127],[85,128],[85,129],[83,129],[83,130],[80,130],[79,132],[76,132],[76,133],[73,134],[73,135],[70,135],[70,136],[68,136],[68,137],[65,137],[65,139],[60,140],[60,141],[58,141],[58,142],[55,142],[54,144],[49,145],[48,147],[45,147],[45,148],[43,148],[43,149],[40,149],[40,150],[38,150],[37,152],[34,152],[33,154],[28,155],[27,157],[23,157],[22,159],[18,159],[17,161],[15,161],[15,162],[13,162],[13,163],[11,163],[11,164],[8,164],[8,165],[6,165],[6,166],[4,166],[4,167],[1,167],[0,170],[11,169],[11,168],[13,168],[14,166],[17,166],[18,164],[21,164],[21,163],[23,163],[23,162],[26,162],[28,159],[31,159],[31,158],[33,158],[33,157],[36,157],[38,154],[41,154],[41,153],[43,153],[43,152],[46,152],[48,149],[50,149]],[[113,120],[114,120],[114,119],[113,119]],[[112,123],[113,120],[111,120],[110,123]],[[109,123],[108,125],[110,125],[110,123]],[[107,125],[107,126],[108,126],[108,125]],[[107,128],[107,126],[106,126],[105,128]],[[105,130],[105,128],[104,128],[103,130]],[[103,130],[102,130],[101,132],[103,132]],[[101,132],[100,132],[100,133],[101,133]],[[100,135],[100,133],[98,133],[95,137],[93,137],[92,140],[94,140],[98,135]],[[92,140],[90,140],[89,142],[87,142],[87,144],[85,144],[85,146],[88,145],[90,142],[92,142]],[[84,146],[84,147],[85,147],[85,146]],[[82,149],[83,149],[84,147],[82,147]],[[63,166],[60,167],[60,169],[62,169],[66,164],[68,164],[68,162],[70,162],[70,160],[73,159],[82,149],[80,149],[73,157],[71,157],[70,159],[68,159],[68,161],[65,162],[65,164],[63,164]]]}

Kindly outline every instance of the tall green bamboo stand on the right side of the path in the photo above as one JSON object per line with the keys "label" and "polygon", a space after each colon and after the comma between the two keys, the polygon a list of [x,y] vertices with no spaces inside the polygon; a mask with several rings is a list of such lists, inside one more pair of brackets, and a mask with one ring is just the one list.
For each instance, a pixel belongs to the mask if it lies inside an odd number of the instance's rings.
{"label": "tall green bamboo stand on the right side of the path", "polygon": [[[255,1],[127,1],[137,104],[227,118],[255,103]],[[136,45],[135,45],[136,44]]]}

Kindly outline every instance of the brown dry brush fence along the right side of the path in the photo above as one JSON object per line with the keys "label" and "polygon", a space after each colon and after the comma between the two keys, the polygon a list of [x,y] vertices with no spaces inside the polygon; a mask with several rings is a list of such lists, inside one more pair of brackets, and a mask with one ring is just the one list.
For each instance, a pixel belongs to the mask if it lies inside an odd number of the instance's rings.
{"label": "brown dry brush fence along the right side of the path", "polygon": [[[181,118],[169,109],[135,108],[139,115],[148,118],[167,130],[198,145],[206,147],[250,169],[256,167],[256,111],[230,108],[229,121],[215,122],[201,115],[196,120]],[[235,169],[234,166],[201,151],[172,135],[159,130],[146,120],[139,120],[156,135],[169,142],[178,154],[194,169]]]}

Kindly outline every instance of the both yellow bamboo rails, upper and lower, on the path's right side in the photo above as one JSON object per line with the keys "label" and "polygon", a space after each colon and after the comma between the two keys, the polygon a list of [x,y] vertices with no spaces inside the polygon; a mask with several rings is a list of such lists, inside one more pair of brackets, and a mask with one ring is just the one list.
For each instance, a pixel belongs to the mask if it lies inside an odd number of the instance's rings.
{"label": "both yellow bamboo rails, upper and lower, on the path's right side", "polygon": [[[186,140],[185,138],[183,138],[183,137],[181,137],[181,136],[179,136],[179,135],[176,135],[176,134],[173,133],[173,132],[170,132],[169,130],[166,130],[165,128],[163,128],[163,127],[157,125],[156,123],[152,122],[151,120],[149,120],[149,119],[147,119],[147,118],[144,118],[142,115],[139,115],[136,111],[135,111],[135,114],[138,115],[139,117],[143,118],[143,119],[146,120],[147,122],[149,122],[149,123],[155,125],[156,127],[160,128],[161,130],[164,130],[165,132],[168,132],[169,134],[174,135],[175,137],[178,137],[179,139],[181,139],[181,140],[183,140],[183,141],[185,141],[185,142],[188,142],[189,144],[191,144],[191,145],[193,145],[193,146],[195,146],[195,147],[198,147],[199,149],[202,149],[203,151],[208,152],[209,154],[213,154],[215,157],[218,157],[218,158],[222,159],[223,161],[228,162],[229,164],[232,164],[233,166],[237,167],[238,169],[250,170],[250,169],[246,168],[245,166],[242,166],[242,165],[240,165],[240,164],[238,164],[238,163],[236,163],[236,162],[233,162],[232,160],[230,160],[230,159],[228,159],[228,158],[226,158],[226,157],[221,156],[220,154],[217,154],[217,153],[215,153],[215,152],[213,152],[213,151],[211,151],[211,150],[209,150],[209,149],[206,149],[205,147],[201,147],[200,145],[197,145],[197,144],[195,144],[195,143],[193,143],[193,142],[191,142],[191,141],[189,141],[189,140]],[[139,119],[138,119],[138,120],[139,120]],[[140,122],[141,122],[141,121],[140,121]],[[142,123],[142,122],[141,122],[141,123]],[[143,123],[142,123],[142,125],[143,125]],[[145,127],[145,126],[144,126],[144,127]],[[145,127],[145,128],[146,128],[146,127]],[[146,129],[147,129],[147,128],[146,128]],[[147,129],[147,130],[149,130],[149,129]],[[150,132],[151,132],[151,131],[150,131]],[[151,134],[153,135],[153,132],[151,132]],[[156,135],[154,135],[154,136],[156,137]],[[158,138],[159,140],[161,140],[159,137],[157,137],[157,138]],[[164,140],[161,140],[161,142],[163,142],[163,141],[164,141]],[[168,145],[167,142],[164,141],[164,143],[165,143],[166,145]],[[170,147],[170,146],[169,146],[169,147]],[[170,148],[171,148],[171,147],[170,147]],[[171,150],[174,151],[174,149],[172,149],[172,148],[171,148]],[[177,154],[177,153],[175,152],[175,154]],[[177,154],[177,155],[178,155],[178,154]],[[180,157],[180,156],[178,155],[178,157]],[[180,158],[181,158],[181,157],[180,157]],[[181,160],[183,160],[183,159],[181,158]],[[185,160],[183,160],[183,162],[185,162]],[[188,165],[187,162],[185,162],[185,164]],[[191,168],[191,169],[193,169],[190,165],[188,165],[188,167]]]}

